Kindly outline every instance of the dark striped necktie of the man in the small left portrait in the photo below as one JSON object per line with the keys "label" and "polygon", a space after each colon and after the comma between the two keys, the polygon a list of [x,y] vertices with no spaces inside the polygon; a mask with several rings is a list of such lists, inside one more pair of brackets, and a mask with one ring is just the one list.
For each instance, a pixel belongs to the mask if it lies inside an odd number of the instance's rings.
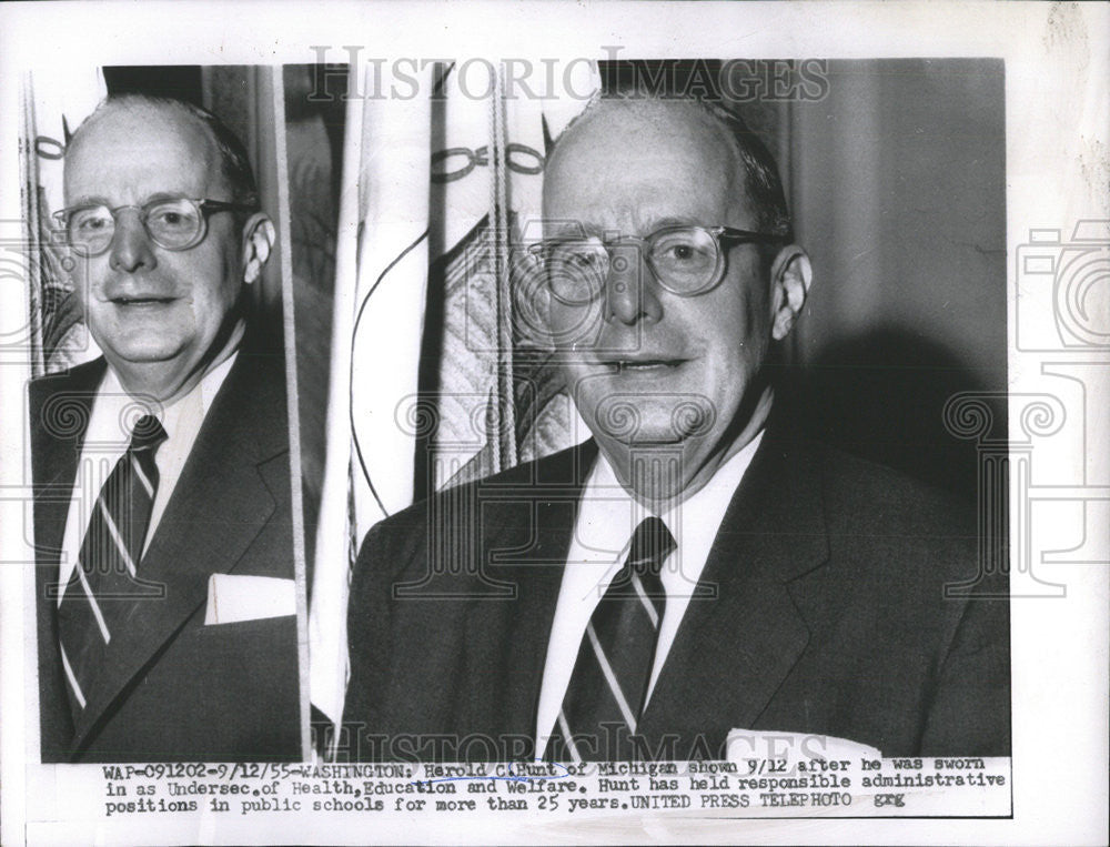
{"label": "dark striped necktie of the man in the small left portrait", "polygon": [[74,719],[85,706],[113,633],[122,631],[135,604],[149,596],[138,566],[158,491],[154,451],[165,438],[157,417],[143,415],[135,423],[127,453],[93,504],[78,565],[58,608],[58,641]]}

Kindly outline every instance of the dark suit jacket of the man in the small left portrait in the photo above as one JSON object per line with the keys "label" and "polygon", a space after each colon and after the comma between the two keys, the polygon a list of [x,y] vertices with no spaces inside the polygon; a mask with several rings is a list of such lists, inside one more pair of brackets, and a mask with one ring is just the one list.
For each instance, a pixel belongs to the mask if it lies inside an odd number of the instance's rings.
{"label": "dark suit jacket of the man in the small left portrait", "polygon": [[295,616],[204,626],[209,576],[293,578],[281,354],[242,349],[140,563],[164,599],[109,645],[77,726],[57,642],[58,561],[99,359],[31,383],[43,762],[299,759]]}

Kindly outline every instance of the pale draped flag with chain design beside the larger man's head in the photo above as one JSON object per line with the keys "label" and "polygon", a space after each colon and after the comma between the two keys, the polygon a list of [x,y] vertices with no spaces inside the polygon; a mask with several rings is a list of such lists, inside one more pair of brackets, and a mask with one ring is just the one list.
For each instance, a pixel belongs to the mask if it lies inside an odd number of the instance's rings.
{"label": "pale draped flag with chain design beside the larger man's head", "polygon": [[[333,722],[367,530],[435,491],[568,446],[574,414],[513,256],[538,235],[547,147],[586,101],[525,97],[485,61],[428,64],[415,97],[403,95],[407,82],[401,97],[371,97],[380,71],[352,67],[349,82],[309,622],[311,698]],[[582,73],[574,90],[596,89],[596,71]]]}

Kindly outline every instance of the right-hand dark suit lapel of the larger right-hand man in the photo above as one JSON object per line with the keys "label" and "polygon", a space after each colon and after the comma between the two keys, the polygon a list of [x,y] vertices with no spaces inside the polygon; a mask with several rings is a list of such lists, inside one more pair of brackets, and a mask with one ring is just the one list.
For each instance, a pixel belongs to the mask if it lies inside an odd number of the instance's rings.
{"label": "right-hand dark suit lapel of the larger right-hand man", "polygon": [[729,729],[755,724],[809,643],[791,593],[827,556],[811,457],[765,436],[699,581],[715,597],[690,602],[640,722],[649,742],[676,734],[679,758],[699,744],[718,755]]}

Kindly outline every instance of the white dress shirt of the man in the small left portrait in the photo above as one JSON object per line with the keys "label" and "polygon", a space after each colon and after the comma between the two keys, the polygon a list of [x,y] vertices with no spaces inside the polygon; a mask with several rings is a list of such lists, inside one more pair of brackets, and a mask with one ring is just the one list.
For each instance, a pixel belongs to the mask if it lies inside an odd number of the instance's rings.
{"label": "white dress shirt of the man in the small left portrait", "polygon": [[158,403],[147,404],[141,399],[131,396],[120,385],[119,377],[112,369],[107,369],[92,403],[84,442],[81,444],[77,475],[73,478],[73,494],[65,517],[65,534],[62,536],[62,556],[58,565],[58,579],[61,586],[58,594],[59,605],[62,602],[62,592],[77,566],[81,544],[89,528],[89,520],[97,504],[97,497],[100,496],[100,490],[131,443],[131,433],[127,427],[133,426],[142,415],[151,414],[161,422],[167,434],[165,441],[154,453],[154,464],[158,465],[158,492],[154,494],[147,538],[143,542],[145,551],[154,537],[154,531],[162,520],[165,505],[173,494],[181,471],[185,466],[185,460],[189,458],[196,435],[201,431],[204,415],[208,414],[238,355],[233,353],[213,367],[192,391],[169,406]]}

